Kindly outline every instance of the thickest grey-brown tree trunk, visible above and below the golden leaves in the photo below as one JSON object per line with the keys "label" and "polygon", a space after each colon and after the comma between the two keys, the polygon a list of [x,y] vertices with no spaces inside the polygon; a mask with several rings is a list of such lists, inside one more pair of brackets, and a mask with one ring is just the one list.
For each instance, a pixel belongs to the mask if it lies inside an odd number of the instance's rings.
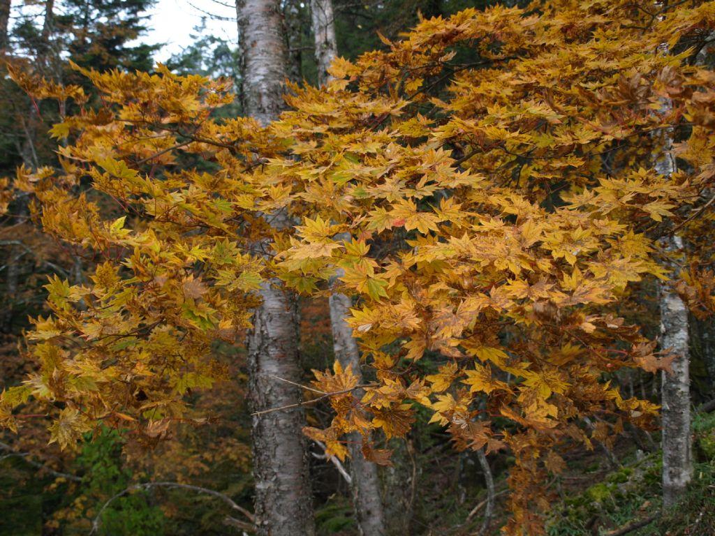
{"label": "thickest grey-brown tree trunk, visible above and below the golden leaves", "polygon": [[[282,109],[286,78],[285,31],[277,0],[238,0],[245,114],[262,124]],[[290,224],[275,214],[275,227]],[[263,285],[248,337],[249,402],[252,412],[300,401],[295,297],[275,280]],[[255,519],[259,536],[312,536],[312,494],[302,410],[255,415],[252,423]]]}

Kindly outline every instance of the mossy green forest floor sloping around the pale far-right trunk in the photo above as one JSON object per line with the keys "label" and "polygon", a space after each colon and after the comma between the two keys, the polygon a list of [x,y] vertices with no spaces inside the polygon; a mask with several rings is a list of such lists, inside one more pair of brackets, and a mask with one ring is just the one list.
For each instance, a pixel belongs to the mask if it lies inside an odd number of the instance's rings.
{"label": "mossy green forest floor sloping around the pale far-right trunk", "polygon": [[[665,512],[661,451],[654,448],[659,438],[641,431],[636,441],[633,433],[609,455],[594,445],[567,460],[566,471],[549,485],[555,500],[548,536],[715,536],[715,413],[694,417],[693,480],[678,505]],[[498,529],[486,534],[495,536]]]}

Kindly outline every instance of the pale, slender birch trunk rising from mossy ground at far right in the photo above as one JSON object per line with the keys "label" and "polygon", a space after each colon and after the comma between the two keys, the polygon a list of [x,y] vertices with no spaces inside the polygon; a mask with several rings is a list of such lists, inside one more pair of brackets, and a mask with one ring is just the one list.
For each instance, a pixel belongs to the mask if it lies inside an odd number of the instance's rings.
{"label": "pale, slender birch trunk rising from mossy ground at far right", "polygon": [[[666,239],[669,252],[682,250],[680,237]],[[678,502],[690,482],[690,377],[688,354],[688,309],[671,287],[661,284],[661,346],[676,358],[672,373],[663,372],[661,405],[663,406],[663,505]]]}

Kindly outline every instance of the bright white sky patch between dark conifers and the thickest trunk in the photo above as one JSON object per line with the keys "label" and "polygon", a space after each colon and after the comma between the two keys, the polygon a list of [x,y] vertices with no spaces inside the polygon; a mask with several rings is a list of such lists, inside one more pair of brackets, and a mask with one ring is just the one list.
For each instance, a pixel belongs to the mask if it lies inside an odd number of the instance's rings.
{"label": "bright white sky patch between dark conifers and the thickest trunk", "polygon": [[[164,47],[154,55],[156,61],[166,61],[169,56],[180,52],[191,44],[189,34],[194,26],[206,17],[206,31],[237,42],[235,0],[158,0],[148,14],[149,34],[142,39],[149,44],[164,43]],[[217,20],[207,16],[216,15],[230,20]]]}

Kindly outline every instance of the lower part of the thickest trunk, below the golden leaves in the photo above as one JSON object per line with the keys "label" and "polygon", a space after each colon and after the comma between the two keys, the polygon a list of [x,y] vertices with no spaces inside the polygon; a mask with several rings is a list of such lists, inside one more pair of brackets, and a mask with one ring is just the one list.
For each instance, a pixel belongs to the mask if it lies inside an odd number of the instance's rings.
{"label": "lower part of the thickest trunk, below the golden leaves", "polygon": [[[273,282],[275,285],[280,282]],[[300,402],[295,299],[265,284],[248,339],[252,412]],[[254,415],[253,472],[259,536],[315,534],[301,408]]]}

